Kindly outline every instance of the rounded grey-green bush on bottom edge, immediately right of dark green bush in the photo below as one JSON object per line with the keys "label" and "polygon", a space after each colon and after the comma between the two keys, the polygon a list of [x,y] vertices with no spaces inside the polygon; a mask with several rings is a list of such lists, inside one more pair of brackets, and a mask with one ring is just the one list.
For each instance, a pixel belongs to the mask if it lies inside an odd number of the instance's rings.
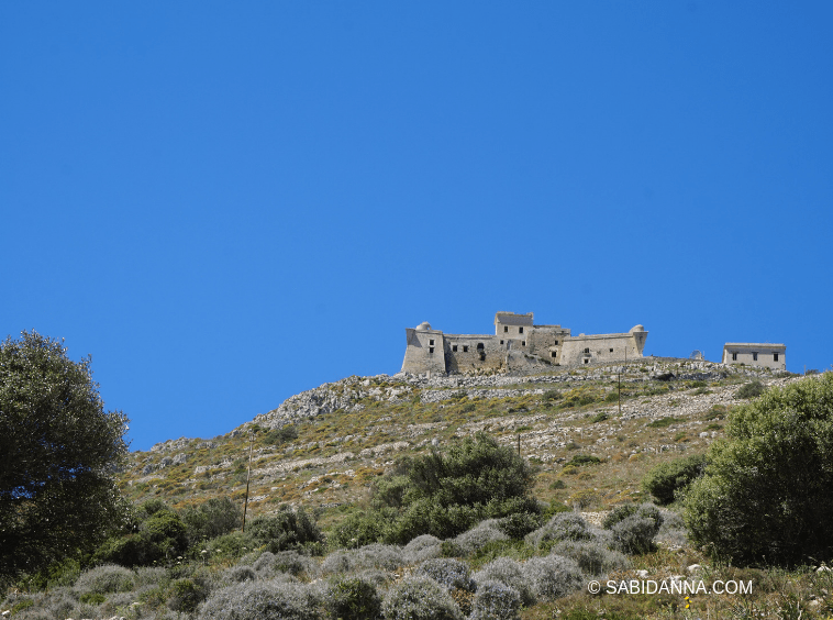
{"label": "rounded grey-green bush on bottom edge, immediately right of dark green bush", "polygon": [[451,595],[427,577],[408,577],[391,587],[381,610],[387,620],[463,620]]}

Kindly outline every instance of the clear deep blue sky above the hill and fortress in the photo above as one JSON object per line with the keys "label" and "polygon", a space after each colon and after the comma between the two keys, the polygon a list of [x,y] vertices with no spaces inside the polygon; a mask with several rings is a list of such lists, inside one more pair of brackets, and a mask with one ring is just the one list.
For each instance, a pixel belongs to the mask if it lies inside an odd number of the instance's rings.
{"label": "clear deep blue sky above the hill and fortress", "polygon": [[134,450],[497,310],[833,362],[833,3],[0,3],[0,335]]}

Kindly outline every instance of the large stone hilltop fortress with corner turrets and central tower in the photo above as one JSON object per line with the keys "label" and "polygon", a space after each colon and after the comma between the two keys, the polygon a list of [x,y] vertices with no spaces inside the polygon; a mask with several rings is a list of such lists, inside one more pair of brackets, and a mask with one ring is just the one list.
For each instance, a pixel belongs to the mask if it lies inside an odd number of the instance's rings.
{"label": "large stone hilltop fortress with corner turrets and central tower", "polygon": [[511,370],[542,362],[584,365],[642,357],[648,333],[636,325],[626,333],[570,335],[560,325],[535,325],[532,312],[495,314],[495,335],[444,334],[425,322],[406,329],[402,373],[448,374],[478,369]]}

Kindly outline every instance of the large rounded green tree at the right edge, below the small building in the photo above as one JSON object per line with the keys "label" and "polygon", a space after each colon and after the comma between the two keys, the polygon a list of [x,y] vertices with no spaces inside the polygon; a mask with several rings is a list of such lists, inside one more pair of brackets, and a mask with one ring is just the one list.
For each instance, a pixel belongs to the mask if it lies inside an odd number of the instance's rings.
{"label": "large rounded green tree at the right edge, below the small building", "polygon": [[833,374],[731,413],[686,495],[695,542],[738,563],[833,557]]}

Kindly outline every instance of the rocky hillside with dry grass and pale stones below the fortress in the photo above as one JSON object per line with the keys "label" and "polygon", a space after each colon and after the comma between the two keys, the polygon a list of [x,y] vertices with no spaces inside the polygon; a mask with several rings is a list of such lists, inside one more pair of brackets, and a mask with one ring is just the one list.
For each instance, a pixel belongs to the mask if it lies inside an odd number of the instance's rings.
{"label": "rocky hillside with dry grass and pale stones below the fortress", "polygon": [[[225,435],[132,453],[121,486],[134,500],[177,507],[215,496],[242,501],[254,432],[249,510],[303,503],[320,508],[326,524],[364,501],[397,457],[486,431],[537,464],[540,499],[604,509],[636,499],[654,463],[721,436],[726,411],[743,401],[738,387],[753,379],[795,380],[673,358],[531,375],[354,376],[288,398]],[[577,454],[600,463],[565,467]]]}

